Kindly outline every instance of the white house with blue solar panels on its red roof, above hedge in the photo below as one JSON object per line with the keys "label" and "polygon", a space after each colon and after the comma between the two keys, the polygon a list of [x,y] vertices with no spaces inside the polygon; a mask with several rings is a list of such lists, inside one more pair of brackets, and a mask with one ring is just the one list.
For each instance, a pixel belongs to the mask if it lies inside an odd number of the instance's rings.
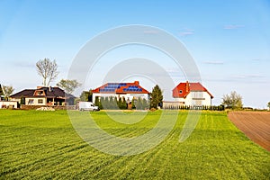
{"label": "white house with blue solar panels on its red roof, above hedge", "polygon": [[126,101],[138,99],[148,100],[148,90],[139,85],[139,81],[134,83],[107,83],[92,90],[93,101],[95,97],[116,97],[117,100],[124,97]]}

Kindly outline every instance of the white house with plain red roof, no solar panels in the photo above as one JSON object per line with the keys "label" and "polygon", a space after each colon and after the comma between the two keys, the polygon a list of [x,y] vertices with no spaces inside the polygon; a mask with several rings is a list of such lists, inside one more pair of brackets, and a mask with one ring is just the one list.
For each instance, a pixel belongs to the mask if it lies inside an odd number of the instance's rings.
{"label": "white house with plain red roof, no solar panels", "polygon": [[173,89],[173,97],[182,105],[211,105],[212,94],[201,83],[180,83]]}

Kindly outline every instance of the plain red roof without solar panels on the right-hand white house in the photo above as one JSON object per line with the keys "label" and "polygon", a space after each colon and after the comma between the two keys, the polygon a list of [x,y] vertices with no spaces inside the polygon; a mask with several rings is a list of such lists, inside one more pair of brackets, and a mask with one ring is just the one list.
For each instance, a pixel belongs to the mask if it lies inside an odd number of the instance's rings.
{"label": "plain red roof without solar panels on the right-hand white house", "polygon": [[188,81],[186,83],[180,83],[179,85],[175,86],[173,89],[173,97],[185,98],[190,92],[207,92],[210,94],[211,98],[213,98],[212,94],[209,93],[209,91],[204,86],[202,86],[201,83],[189,83]]}

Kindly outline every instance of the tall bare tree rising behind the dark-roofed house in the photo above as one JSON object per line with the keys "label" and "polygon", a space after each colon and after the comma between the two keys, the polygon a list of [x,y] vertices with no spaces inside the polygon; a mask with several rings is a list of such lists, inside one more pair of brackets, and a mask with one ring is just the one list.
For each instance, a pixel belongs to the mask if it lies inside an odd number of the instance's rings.
{"label": "tall bare tree rising behind the dark-roofed house", "polygon": [[43,77],[42,85],[44,86],[49,86],[49,83],[55,80],[59,74],[56,60],[50,61],[49,58],[40,59],[36,63],[36,68],[38,74]]}

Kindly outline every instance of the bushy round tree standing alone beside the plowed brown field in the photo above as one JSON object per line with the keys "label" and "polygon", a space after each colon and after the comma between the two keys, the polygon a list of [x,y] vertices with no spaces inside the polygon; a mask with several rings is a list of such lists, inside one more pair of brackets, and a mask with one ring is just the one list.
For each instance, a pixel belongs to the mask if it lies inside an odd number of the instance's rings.
{"label": "bushy round tree standing alone beside the plowed brown field", "polygon": [[241,109],[243,107],[242,96],[235,91],[225,94],[223,95],[221,104],[229,109]]}

